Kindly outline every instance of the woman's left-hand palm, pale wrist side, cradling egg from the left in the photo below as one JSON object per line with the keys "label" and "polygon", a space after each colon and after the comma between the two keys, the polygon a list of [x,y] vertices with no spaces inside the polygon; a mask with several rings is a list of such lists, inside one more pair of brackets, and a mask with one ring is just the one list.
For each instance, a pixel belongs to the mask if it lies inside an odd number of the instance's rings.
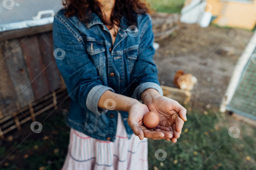
{"label": "woman's left-hand palm, pale wrist side, cradling egg from the left", "polygon": [[149,112],[149,108],[147,107],[147,105],[137,102],[130,106],[128,112],[129,116],[127,122],[133,130],[134,134],[136,136],[139,136],[141,140],[144,137],[149,139],[173,139],[174,133],[168,127],[163,128],[162,126],[159,126],[157,127],[157,129],[152,130],[147,129],[143,125],[143,117],[147,112]]}

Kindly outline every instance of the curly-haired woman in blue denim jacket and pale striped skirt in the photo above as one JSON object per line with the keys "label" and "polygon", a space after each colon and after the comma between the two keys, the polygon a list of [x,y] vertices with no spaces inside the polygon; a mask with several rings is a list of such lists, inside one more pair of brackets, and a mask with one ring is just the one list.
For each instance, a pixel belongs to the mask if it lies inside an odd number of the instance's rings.
{"label": "curly-haired woman in blue denim jacket and pale striped skirt", "polygon": [[[186,109],[162,96],[149,9],[139,0],[64,6],[53,22],[54,56],[72,99],[63,169],[148,169],[147,138],[176,142],[186,121]],[[155,129],[143,126],[149,110],[160,117]]]}

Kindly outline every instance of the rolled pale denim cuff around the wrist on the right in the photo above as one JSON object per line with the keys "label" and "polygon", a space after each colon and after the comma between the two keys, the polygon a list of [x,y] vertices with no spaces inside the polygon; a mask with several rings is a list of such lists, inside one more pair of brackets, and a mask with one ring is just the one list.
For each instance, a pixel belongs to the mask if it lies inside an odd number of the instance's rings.
{"label": "rolled pale denim cuff around the wrist on the right", "polygon": [[135,88],[134,93],[132,94],[132,98],[140,101],[141,93],[143,93],[143,91],[145,91],[148,88],[154,88],[160,93],[161,96],[163,95],[163,90],[159,84],[154,82],[144,82],[138,85],[137,88]]}

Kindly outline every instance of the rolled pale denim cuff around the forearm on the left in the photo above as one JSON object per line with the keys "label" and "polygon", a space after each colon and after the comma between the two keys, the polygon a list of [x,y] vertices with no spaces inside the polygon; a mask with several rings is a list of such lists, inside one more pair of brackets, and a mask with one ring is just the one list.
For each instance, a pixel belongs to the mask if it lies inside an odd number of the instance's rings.
{"label": "rolled pale denim cuff around the forearm on the left", "polygon": [[107,112],[107,109],[102,109],[98,107],[98,103],[102,94],[107,90],[114,92],[114,90],[110,87],[98,85],[94,86],[88,93],[88,96],[86,98],[86,107],[94,112],[96,115],[101,115],[102,113]]}

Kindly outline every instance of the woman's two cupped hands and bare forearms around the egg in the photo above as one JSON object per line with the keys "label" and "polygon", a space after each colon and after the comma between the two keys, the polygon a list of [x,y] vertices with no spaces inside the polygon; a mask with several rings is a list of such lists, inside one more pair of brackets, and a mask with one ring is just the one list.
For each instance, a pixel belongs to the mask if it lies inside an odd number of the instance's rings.
{"label": "woman's two cupped hands and bare forearms around the egg", "polygon": [[[166,139],[176,142],[180,137],[181,129],[186,121],[186,109],[175,100],[161,97],[157,90],[146,89],[141,94],[144,104],[136,99],[132,99],[107,90],[101,95],[98,106],[107,109],[104,105],[107,99],[115,101],[116,107],[113,110],[127,111],[129,113],[127,122],[134,134],[142,140],[144,137],[149,139]],[[149,111],[155,111],[160,123],[156,129],[147,129],[143,125],[143,117]]]}

